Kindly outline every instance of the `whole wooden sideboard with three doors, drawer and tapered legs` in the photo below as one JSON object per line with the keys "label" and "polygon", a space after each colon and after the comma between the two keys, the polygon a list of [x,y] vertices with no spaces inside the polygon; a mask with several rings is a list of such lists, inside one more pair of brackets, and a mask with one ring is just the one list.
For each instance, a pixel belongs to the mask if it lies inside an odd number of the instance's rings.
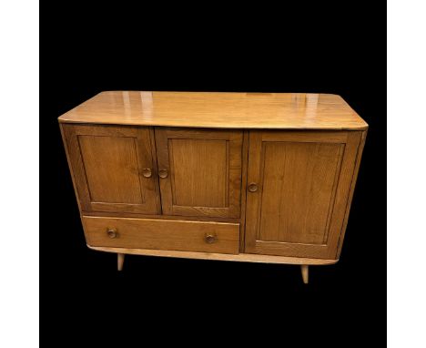
{"label": "whole wooden sideboard with three doors, drawer and tapered legs", "polygon": [[87,246],[339,261],[368,125],[339,96],[102,92],[59,124]]}

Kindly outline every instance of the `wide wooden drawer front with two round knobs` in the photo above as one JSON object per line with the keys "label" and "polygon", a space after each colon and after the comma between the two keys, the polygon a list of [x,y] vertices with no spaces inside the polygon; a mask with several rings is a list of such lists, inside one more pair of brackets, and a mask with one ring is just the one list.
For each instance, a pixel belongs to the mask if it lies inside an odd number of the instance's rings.
{"label": "wide wooden drawer front with two round knobs", "polygon": [[211,221],[82,218],[90,246],[238,254],[239,224]]}

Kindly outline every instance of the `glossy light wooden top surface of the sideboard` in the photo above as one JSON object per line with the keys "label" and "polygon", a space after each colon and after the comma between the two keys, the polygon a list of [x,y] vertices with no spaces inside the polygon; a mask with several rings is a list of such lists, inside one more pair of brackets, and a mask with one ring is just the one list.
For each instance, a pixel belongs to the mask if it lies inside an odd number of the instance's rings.
{"label": "glossy light wooden top surface of the sideboard", "polygon": [[342,97],[308,93],[106,91],[59,121],[191,128],[368,128]]}

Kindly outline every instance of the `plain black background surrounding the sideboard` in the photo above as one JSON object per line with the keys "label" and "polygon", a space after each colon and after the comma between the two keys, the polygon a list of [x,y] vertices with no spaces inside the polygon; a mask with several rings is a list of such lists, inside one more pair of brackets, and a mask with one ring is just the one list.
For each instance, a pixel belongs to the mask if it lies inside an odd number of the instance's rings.
{"label": "plain black background surrounding the sideboard", "polygon": [[[42,6],[42,340],[384,343],[383,3]],[[128,256],[118,273],[86,248],[56,120],[103,90],[342,96],[370,129],[339,263],[311,267],[308,286],[289,265]]]}

